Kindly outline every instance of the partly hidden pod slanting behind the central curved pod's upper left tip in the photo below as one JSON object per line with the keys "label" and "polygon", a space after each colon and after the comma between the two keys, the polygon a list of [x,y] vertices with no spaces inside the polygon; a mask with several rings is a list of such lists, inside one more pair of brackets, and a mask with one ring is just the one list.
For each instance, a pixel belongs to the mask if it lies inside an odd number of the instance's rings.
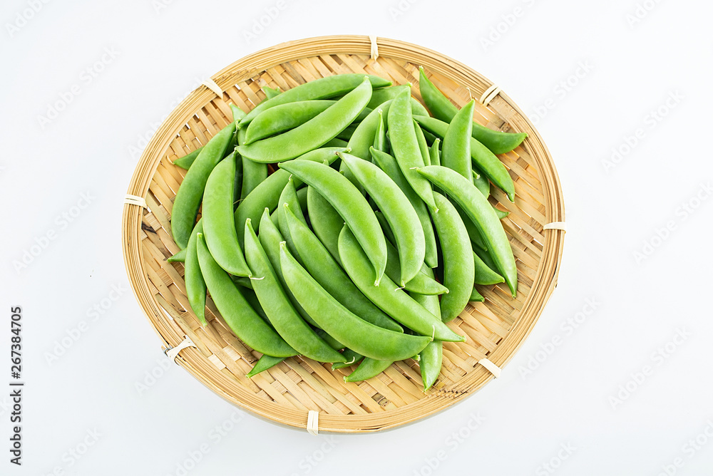
{"label": "partly hidden pod slanting behind the central curved pod's upper left tip", "polygon": [[[300,156],[299,159],[301,162],[309,162],[312,160],[322,162],[323,160],[328,160],[331,163],[337,160],[337,155],[335,154],[341,150],[344,149],[316,149]],[[237,231],[237,241],[240,242],[241,248],[243,246],[244,229],[240,223],[244,225],[245,220],[248,218],[250,218],[252,222],[259,222],[262,212],[266,207],[269,208],[271,212],[277,208],[279,195],[282,194],[284,186],[287,185],[289,174],[290,172],[284,170],[276,170],[270,177],[267,177],[260,185],[255,187],[255,190],[252,190],[250,195],[247,195],[245,200],[242,200],[240,205],[237,206],[237,209],[235,209],[235,228]],[[296,187],[299,185],[301,185],[301,182],[300,184],[295,184]]]}

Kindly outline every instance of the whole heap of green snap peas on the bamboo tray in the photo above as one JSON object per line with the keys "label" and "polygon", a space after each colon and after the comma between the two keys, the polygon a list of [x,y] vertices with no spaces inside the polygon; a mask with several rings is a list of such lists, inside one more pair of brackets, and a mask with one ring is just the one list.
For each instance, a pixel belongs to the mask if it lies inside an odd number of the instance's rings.
{"label": "whole heap of green snap peas on the bamboo tray", "polygon": [[[446,326],[476,284],[518,275],[491,183],[514,200],[496,154],[525,134],[473,122],[420,71],[411,86],[341,74],[266,98],[202,148],[171,210],[190,306],[210,293],[225,324],[262,353],[249,377],[290,356],[358,364],[345,381],[420,362],[424,391],[441,371]],[[270,173],[272,172],[272,173]],[[200,211],[200,219],[198,214]],[[198,219],[198,221],[197,221]]]}

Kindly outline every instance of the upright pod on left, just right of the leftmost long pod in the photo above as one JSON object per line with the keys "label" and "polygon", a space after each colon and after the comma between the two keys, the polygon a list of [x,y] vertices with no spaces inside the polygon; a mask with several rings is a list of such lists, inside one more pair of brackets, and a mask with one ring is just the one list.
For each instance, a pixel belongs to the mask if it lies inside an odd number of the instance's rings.
{"label": "upright pod on left, just right of the leftmost long pod", "polygon": [[237,241],[233,218],[235,155],[215,166],[205,183],[202,222],[205,242],[213,259],[235,276],[251,276]]}

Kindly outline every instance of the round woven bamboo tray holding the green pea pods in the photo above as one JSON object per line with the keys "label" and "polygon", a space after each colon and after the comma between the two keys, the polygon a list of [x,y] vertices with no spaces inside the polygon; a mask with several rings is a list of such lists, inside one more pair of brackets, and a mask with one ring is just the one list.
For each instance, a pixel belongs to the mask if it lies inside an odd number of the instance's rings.
{"label": "round woven bamboo tray holding the green pea pods", "polygon": [[[232,120],[230,103],[252,109],[264,98],[262,86],[287,90],[322,76],[370,73],[394,84],[411,83],[420,100],[419,66],[458,107],[471,95],[481,98],[487,91],[487,106],[476,104],[475,118],[480,123],[528,133],[520,147],[500,156],[515,181],[515,203],[496,187],[491,197],[493,205],[511,212],[503,225],[517,259],[517,299],[504,284],[479,286],[486,301],[468,304],[449,324],[468,340],[443,344],[441,376],[426,393],[419,364],[411,360],[394,363],[376,378],[358,384],[344,383],[349,368],[332,371],[329,364],[299,357],[246,378],[260,354],[233,336],[210,299],[208,326],[202,328],[185,296],[183,265],[166,262],[178,252],[170,214],[185,175],[173,161],[205,144]],[[515,103],[493,90],[492,83],[476,71],[436,51],[367,36],[283,43],[236,61],[212,81],[183,100],[155,133],[128,187],[128,194],[139,198],[128,200],[123,209],[123,254],[140,305],[164,348],[183,348],[186,337],[195,345],[180,350],[176,362],[222,398],[273,422],[304,429],[308,418],[314,420],[318,412],[322,432],[371,432],[411,423],[488,383],[493,373],[478,361],[487,358],[503,368],[528,336],[557,284],[564,240],[563,230],[543,229],[545,224],[564,221],[555,165]]]}

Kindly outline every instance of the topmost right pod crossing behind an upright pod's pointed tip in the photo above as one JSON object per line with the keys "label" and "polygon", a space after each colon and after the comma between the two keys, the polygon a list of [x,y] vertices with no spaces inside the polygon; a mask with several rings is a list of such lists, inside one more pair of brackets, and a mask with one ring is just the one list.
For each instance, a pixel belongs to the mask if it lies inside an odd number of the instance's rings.
{"label": "topmost right pod crossing behind an upright pod's pointed tip", "polygon": [[[421,97],[424,98],[426,106],[431,110],[434,117],[446,122],[450,122],[453,119],[453,116],[458,112],[458,108],[434,86],[434,83],[431,83],[429,78],[426,78],[424,68],[421,68],[419,76],[419,89],[421,90]],[[510,152],[528,136],[525,133],[503,133],[499,130],[492,130],[475,121],[473,121],[471,135],[493,151],[494,154]]]}

